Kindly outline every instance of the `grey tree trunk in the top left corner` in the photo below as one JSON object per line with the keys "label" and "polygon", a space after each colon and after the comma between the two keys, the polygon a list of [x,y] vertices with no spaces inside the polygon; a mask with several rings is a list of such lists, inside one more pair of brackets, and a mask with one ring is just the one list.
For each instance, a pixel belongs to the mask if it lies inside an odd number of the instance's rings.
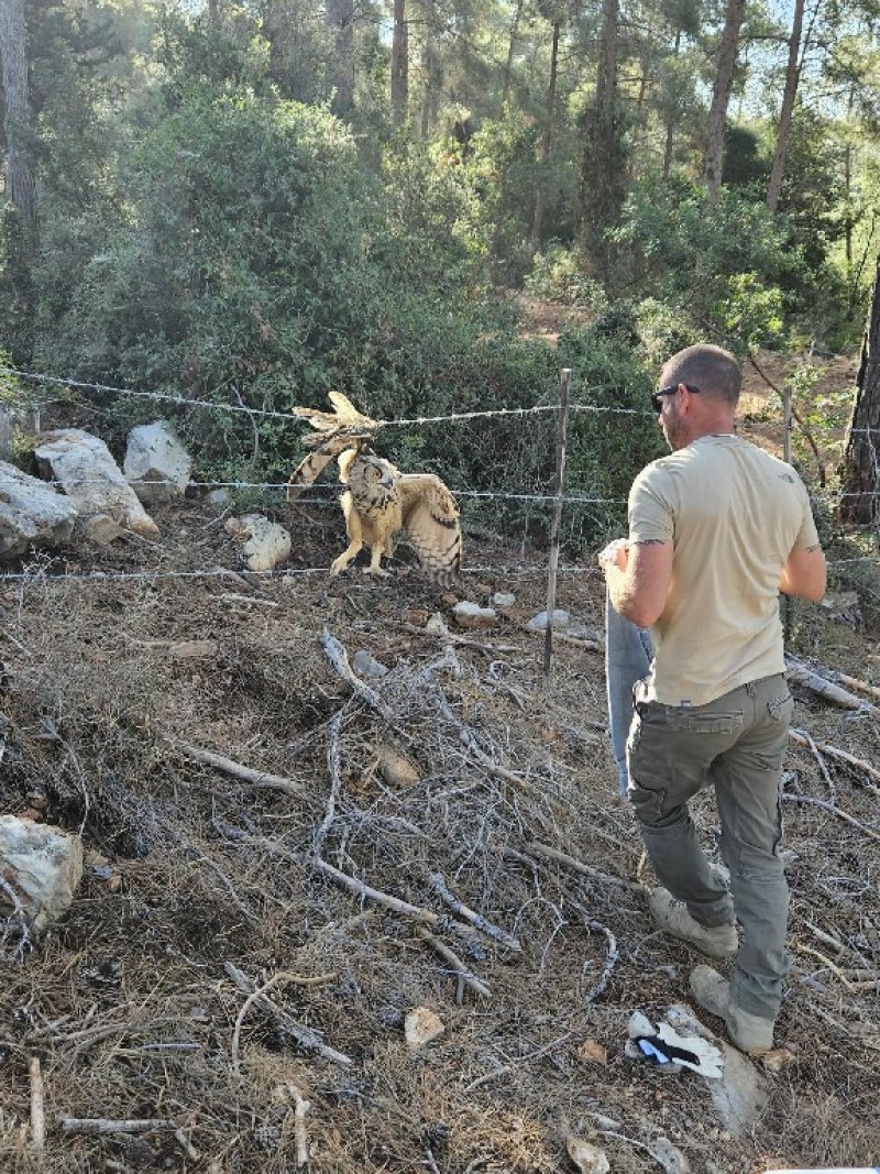
{"label": "grey tree trunk in the top left corner", "polygon": [[25,0],[0,0],[0,55],[4,62],[6,184],[27,232],[36,223],[34,177],[23,139],[31,126]]}

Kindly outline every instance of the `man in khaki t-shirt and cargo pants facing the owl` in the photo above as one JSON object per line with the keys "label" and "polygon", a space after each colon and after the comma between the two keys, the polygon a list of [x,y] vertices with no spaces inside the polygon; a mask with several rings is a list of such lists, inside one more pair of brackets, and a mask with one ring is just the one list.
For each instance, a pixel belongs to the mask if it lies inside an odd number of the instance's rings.
{"label": "man in khaki t-shirt and cargo pants facing the owl", "polygon": [[[779,592],[821,599],[825,556],[798,474],[736,436],[739,389],[739,367],[720,348],[689,346],[665,364],[651,403],[672,452],[636,478],[629,539],[600,562],[614,608],[655,642],[627,745],[629,798],[665,886],[651,893],[651,912],[713,958],[737,954],[730,983],[698,966],[691,989],[737,1047],[760,1054],[773,1046],[788,970],[777,852],[793,702]],[[705,783],[730,889],[688,812]]]}

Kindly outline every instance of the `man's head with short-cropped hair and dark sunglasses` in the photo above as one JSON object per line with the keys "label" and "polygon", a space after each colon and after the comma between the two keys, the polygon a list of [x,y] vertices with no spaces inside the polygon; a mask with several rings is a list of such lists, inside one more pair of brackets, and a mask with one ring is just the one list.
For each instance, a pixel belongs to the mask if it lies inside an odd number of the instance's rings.
{"label": "man's head with short-cropped hair and dark sunglasses", "polygon": [[739,364],[720,346],[688,346],[668,359],[654,405],[670,448],[732,432],[740,385]]}

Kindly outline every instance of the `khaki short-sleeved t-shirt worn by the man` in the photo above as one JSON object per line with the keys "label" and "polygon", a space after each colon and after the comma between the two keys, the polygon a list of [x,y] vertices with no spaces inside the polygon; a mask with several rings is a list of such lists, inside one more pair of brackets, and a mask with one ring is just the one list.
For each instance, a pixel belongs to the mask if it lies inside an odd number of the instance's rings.
{"label": "khaki short-sleeved t-shirt worn by the man", "polygon": [[700,437],[638,474],[629,534],[675,548],[651,629],[657,701],[705,706],[784,672],[779,578],[792,551],[819,542],[791,465],[736,436]]}

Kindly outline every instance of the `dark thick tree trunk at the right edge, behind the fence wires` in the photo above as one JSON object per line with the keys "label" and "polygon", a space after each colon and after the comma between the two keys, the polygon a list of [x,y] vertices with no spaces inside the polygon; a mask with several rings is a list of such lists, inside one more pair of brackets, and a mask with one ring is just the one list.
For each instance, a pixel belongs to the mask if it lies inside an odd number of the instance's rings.
{"label": "dark thick tree trunk at the right edge, behind the fence wires", "polygon": [[880,519],[880,257],[855,379],[855,403],[844,450],[840,518],[860,525]]}

